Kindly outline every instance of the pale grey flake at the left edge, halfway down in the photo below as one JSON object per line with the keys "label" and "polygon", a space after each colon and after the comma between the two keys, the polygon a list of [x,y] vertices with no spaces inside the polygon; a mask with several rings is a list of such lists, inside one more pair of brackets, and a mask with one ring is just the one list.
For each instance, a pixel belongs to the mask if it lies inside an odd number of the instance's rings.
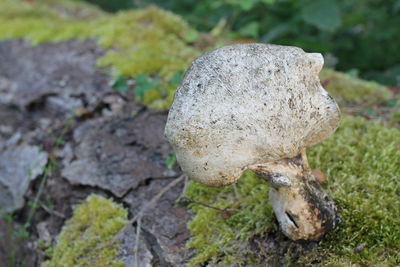
{"label": "pale grey flake at the left edge, halfway down", "polygon": [[0,215],[23,207],[29,183],[47,164],[46,152],[19,140],[16,134],[0,144]]}

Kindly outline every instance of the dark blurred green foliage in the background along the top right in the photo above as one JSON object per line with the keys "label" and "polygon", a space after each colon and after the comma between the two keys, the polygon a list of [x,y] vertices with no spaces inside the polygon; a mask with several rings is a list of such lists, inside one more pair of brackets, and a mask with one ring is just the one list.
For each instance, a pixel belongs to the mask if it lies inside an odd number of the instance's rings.
{"label": "dark blurred green foliage in the background along the top right", "polygon": [[[127,0],[88,0],[108,10],[127,8]],[[182,15],[198,30],[226,20],[233,36],[295,45],[329,54],[328,65],[359,70],[361,77],[400,83],[399,0],[147,0]],[[118,7],[118,4],[120,6]],[[111,5],[113,6],[111,8]]]}

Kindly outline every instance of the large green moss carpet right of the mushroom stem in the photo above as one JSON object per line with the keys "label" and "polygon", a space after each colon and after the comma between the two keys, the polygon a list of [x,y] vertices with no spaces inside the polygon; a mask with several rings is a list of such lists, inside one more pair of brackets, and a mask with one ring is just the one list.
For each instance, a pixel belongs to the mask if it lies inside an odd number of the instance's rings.
{"label": "large green moss carpet right of the mushroom stem", "polygon": [[[343,220],[317,249],[327,266],[400,264],[399,136],[399,128],[346,117],[332,138],[311,149],[310,163],[329,177]],[[359,245],[365,249],[354,252]]]}

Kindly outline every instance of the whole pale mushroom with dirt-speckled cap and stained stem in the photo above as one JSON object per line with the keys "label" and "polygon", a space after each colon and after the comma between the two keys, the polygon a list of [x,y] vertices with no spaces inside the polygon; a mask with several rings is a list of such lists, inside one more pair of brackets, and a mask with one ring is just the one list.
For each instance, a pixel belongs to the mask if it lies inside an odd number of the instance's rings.
{"label": "whole pale mushroom with dirt-speckled cap and stained stem", "polygon": [[306,157],[306,148],[340,120],[320,84],[322,66],[321,54],[297,47],[216,49],[187,70],[165,128],[190,178],[224,186],[252,170],[265,179],[280,228],[292,240],[320,240],[340,222]]}

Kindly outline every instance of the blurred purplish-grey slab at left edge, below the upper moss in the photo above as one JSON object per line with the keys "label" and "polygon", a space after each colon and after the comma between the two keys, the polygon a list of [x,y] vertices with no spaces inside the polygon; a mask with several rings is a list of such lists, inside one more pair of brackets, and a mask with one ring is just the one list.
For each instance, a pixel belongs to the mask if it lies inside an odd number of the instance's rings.
{"label": "blurred purplish-grey slab at left edge, below the upper moss", "polygon": [[32,105],[70,113],[93,111],[106,92],[108,78],[96,66],[102,50],[94,40],[0,43],[0,102],[25,110]]}

